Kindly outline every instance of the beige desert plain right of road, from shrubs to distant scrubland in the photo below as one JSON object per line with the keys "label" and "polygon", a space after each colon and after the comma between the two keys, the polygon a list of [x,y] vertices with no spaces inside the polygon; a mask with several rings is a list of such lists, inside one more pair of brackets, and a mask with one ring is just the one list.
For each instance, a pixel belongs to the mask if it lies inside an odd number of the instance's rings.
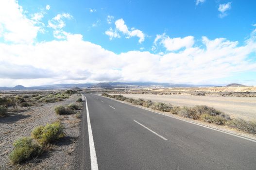
{"label": "beige desert plain right of road, from shrubs to distant scrubland", "polygon": [[166,102],[178,106],[207,105],[233,118],[256,120],[255,91],[256,87],[205,87],[144,89],[119,94],[124,97]]}

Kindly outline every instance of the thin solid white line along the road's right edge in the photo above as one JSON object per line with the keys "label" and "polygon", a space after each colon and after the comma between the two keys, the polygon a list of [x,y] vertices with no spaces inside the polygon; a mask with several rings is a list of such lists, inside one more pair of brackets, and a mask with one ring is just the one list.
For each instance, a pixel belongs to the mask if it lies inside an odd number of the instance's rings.
{"label": "thin solid white line along the road's right edge", "polygon": [[[97,94],[94,94],[94,95],[97,95]],[[98,96],[100,96],[100,95],[98,95]],[[118,101],[118,100],[114,100],[114,99],[111,99],[111,98],[108,98],[108,97],[105,97],[105,96],[102,96],[102,97],[103,97],[103,98],[106,98],[106,99],[109,99],[109,100],[112,100],[112,101],[120,102],[120,101]],[[179,118],[174,118],[174,117],[172,117],[172,116],[165,115],[165,114],[163,114],[163,113],[158,113],[158,112],[155,112],[155,111],[152,111],[152,110],[149,110],[149,109],[141,108],[141,107],[138,107],[138,106],[136,106],[136,105],[131,105],[131,104],[129,104],[129,103],[125,103],[125,102],[121,102],[121,103],[130,105],[130,106],[134,106],[134,107],[137,107],[137,108],[140,108],[140,109],[144,109],[144,110],[147,110],[147,111],[149,111],[149,112],[157,113],[157,114],[160,114],[160,115],[163,115],[163,116],[167,116],[167,117],[169,117],[169,118],[173,118],[173,119],[177,119],[177,120],[181,120],[181,121],[186,121],[186,122],[191,123],[191,124],[194,124],[194,125],[198,125],[198,126],[201,126],[201,127],[205,127],[205,128],[207,128],[207,129],[211,129],[211,130],[214,130],[214,131],[222,132],[222,133],[227,134],[227,135],[236,136],[236,137],[239,137],[239,138],[242,138],[242,139],[245,139],[245,140],[249,140],[249,141],[252,141],[252,142],[255,142],[255,143],[256,143],[256,140],[255,140],[255,139],[252,139],[252,138],[248,138],[248,137],[244,137],[244,136],[239,136],[239,135],[236,135],[236,134],[233,134],[233,133],[230,133],[230,132],[225,132],[225,131],[222,131],[222,130],[219,130],[219,129],[214,129],[214,128],[211,128],[211,127],[208,127],[208,126],[205,126],[205,125],[202,125],[202,124],[194,123],[194,122],[191,122],[191,121],[188,121],[188,120],[179,119]]]}

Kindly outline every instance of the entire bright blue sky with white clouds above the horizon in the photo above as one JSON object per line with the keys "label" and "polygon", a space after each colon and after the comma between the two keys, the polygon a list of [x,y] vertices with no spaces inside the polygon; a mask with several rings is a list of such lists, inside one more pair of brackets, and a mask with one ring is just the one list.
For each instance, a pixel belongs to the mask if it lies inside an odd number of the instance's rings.
{"label": "entire bright blue sky with white clouds above the horizon", "polygon": [[[254,0],[0,3],[0,85],[101,81],[256,85]],[[10,50],[14,48],[16,53]],[[16,69],[7,74],[11,66]]]}

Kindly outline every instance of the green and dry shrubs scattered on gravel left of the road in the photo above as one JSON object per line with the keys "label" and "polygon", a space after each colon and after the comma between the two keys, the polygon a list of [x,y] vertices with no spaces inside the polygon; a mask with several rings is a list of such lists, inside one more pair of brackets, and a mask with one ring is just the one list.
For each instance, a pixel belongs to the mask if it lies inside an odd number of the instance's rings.
{"label": "green and dry shrubs scattered on gravel left of the road", "polygon": [[[33,94],[0,97],[0,116],[8,115],[8,107],[17,109],[22,103],[27,103],[31,100],[39,101],[40,99],[44,99],[41,100],[41,102],[45,102],[45,99],[48,98],[67,99],[74,93],[74,90],[66,90],[63,93],[51,93],[48,95]],[[76,119],[81,119],[82,114],[80,110],[82,109],[82,105],[81,102],[75,102],[65,106],[56,106],[54,111],[59,115],[59,120],[53,123],[47,123],[46,125],[37,126],[32,130],[31,136],[20,137],[15,140],[13,143],[14,149],[9,153],[10,162],[12,164],[22,164],[37,158],[42,153],[52,151],[56,147],[55,143],[66,136],[64,124],[60,120],[65,120],[69,114],[75,114],[74,117]],[[77,121],[80,120],[72,120],[70,122]]]}

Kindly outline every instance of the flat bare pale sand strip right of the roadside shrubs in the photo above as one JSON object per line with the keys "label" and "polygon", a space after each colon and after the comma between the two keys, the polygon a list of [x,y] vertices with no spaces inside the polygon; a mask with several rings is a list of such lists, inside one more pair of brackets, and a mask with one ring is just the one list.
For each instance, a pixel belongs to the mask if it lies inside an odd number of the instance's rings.
{"label": "flat bare pale sand strip right of the roadside shrubs", "polygon": [[134,99],[166,102],[179,106],[207,105],[229,114],[231,117],[256,120],[255,97],[221,97],[193,95],[122,94]]}

